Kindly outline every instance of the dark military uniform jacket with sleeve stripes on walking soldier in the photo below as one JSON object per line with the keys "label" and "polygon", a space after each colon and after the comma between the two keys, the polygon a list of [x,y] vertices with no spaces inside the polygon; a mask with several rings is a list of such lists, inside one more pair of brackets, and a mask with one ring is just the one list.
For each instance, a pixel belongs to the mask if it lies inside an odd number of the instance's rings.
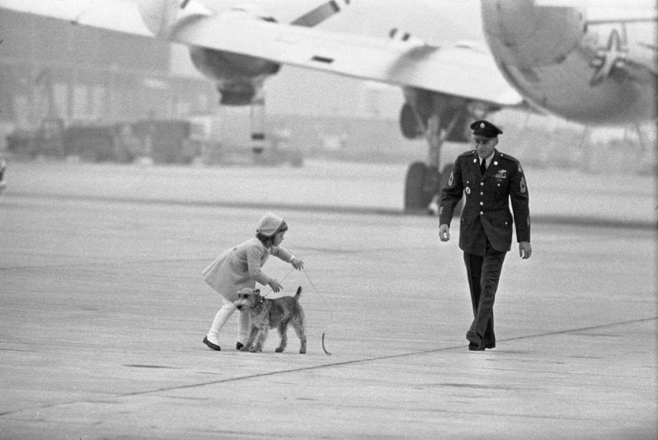
{"label": "dark military uniform jacket with sleeve stripes on walking soldier", "polygon": [[[491,247],[507,252],[512,243],[512,223],[517,241],[530,241],[528,187],[518,160],[498,150],[485,175],[475,150],[461,154],[454,162],[448,184],[441,193],[439,221],[450,226],[454,207],[465,195],[459,227],[459,247],[468,254],[485,255]],[[509,210],[511,201],[514,216]]]}

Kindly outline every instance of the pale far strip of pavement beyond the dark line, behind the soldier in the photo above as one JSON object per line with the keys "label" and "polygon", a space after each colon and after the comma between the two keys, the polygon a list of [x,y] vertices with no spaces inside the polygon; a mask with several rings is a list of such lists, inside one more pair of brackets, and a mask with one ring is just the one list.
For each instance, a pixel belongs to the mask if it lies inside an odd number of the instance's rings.
{"label": "pale far strip of pavement beyond the dark line, behind the soldier", "polygon": [[[535,221],[654,228],[654,175],[525,169]],[[12,162],[8,194],[233,207],[402,213],[403,164],[307,160],[292,167],[152,167]],[[253,183],[253,184],[252,184]]]}

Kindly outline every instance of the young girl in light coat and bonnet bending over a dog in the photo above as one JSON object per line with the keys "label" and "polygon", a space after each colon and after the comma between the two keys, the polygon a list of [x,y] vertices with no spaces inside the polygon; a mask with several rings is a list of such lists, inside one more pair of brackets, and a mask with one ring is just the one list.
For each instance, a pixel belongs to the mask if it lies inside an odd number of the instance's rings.
{"label": "young girl in light coat and bonnet bending over a dog", "polygon": [[[277,280],[271,278],[260,269],[270,255],[289,262],[297,270],[304,268],[304,262],[296,258],[287,249],[280,247],[288,225],[281,217],[269,212],[260,219],[256,236],[241,245],[227,249],[203,272],[204,280],[215,290],[223,300],[223,306],[212,320],[212,326],[204,338],[204,344],[212,350],[221,350],[219,347],[219,330],[226,323],[235,310],[233,302],[238,299],[237,292],[245,287],[254,289],[256,281],[263,286],[269,285],[274,292],[283,289]],[[249,337],[249,315],[241,310],[238,320],[239,350]]]}

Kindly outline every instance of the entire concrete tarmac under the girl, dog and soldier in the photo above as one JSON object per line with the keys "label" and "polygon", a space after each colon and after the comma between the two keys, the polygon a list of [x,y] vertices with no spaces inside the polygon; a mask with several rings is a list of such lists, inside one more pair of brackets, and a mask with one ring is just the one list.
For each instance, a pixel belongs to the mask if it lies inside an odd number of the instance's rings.
{"label": "entire concrete tarmac under the girl, dog and soldier", "polygon": [[[526,169],[497,347],[467,350],[459,223],[402,212],[406,167],[10,162],[0,195],[1,439],[656,439],[655,176]],[[201,271],[287,219],[308,354],[202,344]],[[322,339],[326,350],[323,350]]]}

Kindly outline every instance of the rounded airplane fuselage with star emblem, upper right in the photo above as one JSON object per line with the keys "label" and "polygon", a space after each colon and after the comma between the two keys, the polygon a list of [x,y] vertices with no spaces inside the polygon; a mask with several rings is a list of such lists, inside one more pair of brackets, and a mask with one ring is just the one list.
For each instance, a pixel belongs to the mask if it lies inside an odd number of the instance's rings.
{"label": "rounded airplane fuselage with star emblem, upper right", "polygon": [[587,124],[655,119],[655,23],[592,24],[585,10],[533,0],[482,9],[500,71],[537,108]]}

